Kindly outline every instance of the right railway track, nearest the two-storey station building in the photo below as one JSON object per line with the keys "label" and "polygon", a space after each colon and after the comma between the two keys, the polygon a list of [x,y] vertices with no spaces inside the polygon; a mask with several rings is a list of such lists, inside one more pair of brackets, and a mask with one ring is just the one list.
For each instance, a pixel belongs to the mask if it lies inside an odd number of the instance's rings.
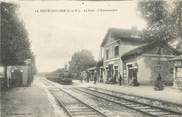
{"label": "right railway track, nearest the two-storey station building", "polygon": [[123,98],[120,96],[105,93],[104,91],[92,90],[88,88],[74,88],[76,91],[80,91],[96,98],[101,98],[115,104],[127,107],[132,110],[144,113],[152,117],[182,117],[182,113],[168,110],[165,108],[137,102],[132,99]]}

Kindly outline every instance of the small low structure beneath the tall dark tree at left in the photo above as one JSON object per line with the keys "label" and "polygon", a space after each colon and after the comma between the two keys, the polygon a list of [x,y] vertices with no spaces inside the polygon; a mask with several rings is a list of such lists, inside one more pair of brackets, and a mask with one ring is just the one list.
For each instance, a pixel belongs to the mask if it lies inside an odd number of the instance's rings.
{"label": "small low structure beneath the tall dark tree at left", "polygon": [[7,78],[5,78],[4,68],[0,67],[0,88],[29,86],[35,71],[30,59],[27,59],[25,63],[25,65],[8,66]]}

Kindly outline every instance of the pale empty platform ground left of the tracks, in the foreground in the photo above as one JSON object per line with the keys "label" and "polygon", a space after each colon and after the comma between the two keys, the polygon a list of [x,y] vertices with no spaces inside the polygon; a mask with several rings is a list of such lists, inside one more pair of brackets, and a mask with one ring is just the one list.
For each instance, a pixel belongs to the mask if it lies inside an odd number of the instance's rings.
{"label": "pale empty platform ground left of the tracks, in the foreground", "polygon": [[30,87],[17,87],[1,92],[1,117],[64,117],[39,78]]}

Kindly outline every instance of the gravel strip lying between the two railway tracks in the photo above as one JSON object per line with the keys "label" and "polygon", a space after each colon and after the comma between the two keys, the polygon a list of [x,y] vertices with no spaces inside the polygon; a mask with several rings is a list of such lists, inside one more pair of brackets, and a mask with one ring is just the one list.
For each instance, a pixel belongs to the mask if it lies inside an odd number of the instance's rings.
{"label": "gravel strip lying between the two railway tracks", "polygon": [[77,90],[69,90],[69,92],[75,95],[77,98],[82,99],[82,101],[84,101],[85,103],[88,103],[94,108],[105,113],[109,117],[150,117],[140,112],[130,110],[126,107],[122,107],[118,104],[108,102],[104,99],[96,98],[95,96],[91,96]]}

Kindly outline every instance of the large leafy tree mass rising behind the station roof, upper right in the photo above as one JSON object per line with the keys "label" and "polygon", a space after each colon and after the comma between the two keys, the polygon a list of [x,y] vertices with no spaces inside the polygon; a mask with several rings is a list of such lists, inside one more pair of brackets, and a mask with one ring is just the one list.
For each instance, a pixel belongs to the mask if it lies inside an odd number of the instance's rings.
{"label": "large leafy tree mass rising behind the station roof, upper right", "polygon": [[182,1],[174,0],[172,3],[169,5],[164,0],[143,0],[138,3],[138,9],[147,21],[147,28],[143,31],[145,39],[171,41],[181,35]]}

